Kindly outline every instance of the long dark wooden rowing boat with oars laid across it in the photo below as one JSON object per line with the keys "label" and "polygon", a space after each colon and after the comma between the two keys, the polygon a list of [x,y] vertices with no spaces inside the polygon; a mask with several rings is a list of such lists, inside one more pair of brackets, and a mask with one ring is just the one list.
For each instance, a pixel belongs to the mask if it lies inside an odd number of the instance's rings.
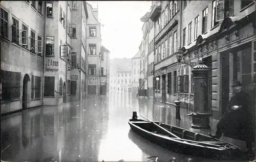
{"label": "long dark wooden rowing boat with oars laid across it", "polygon": [[230,143],[173,125],[137,119],[136,112],[128,123],[142,138],[175,152],[222,159],[240,154],[240,149]]}

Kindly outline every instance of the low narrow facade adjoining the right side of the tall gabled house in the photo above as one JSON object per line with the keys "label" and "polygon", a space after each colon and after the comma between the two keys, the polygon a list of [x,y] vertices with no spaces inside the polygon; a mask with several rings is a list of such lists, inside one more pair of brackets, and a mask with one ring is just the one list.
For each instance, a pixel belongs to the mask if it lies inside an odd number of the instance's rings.
{"label": "low narrow facade adjoining the right side of the tall gabled house", "polygon": [[110,79],[110,51],[102,45],[100,52],[100,95],[107,95],[107,92],[109,92]]}

